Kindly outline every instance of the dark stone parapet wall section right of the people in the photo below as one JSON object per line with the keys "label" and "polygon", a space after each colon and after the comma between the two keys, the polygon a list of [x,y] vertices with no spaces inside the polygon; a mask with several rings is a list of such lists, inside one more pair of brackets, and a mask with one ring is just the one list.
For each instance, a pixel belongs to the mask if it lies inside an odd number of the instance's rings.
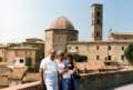
{"label": "dark stone parapet wall section right of the people", "polygon": [[133,82],[133,71],[81,74],[80,90],[106,90]]}

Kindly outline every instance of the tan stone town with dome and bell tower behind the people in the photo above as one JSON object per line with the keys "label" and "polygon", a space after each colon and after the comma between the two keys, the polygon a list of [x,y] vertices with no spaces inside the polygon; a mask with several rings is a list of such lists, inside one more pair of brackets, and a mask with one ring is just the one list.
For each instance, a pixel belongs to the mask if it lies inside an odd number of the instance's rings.
{"label": "tan stone town with dome and bell tower behind the people", "polygon": [[[103,76],[101,72],[104,72],[110,78],[111,76],[106,72],[114,72],[114,74],[124,74],[125,77],[125,72],[120,73],[119,71],[133,70],[133,67],[124,56],[124,50],[133,41],[133,32],[110,31],[108,39],[104,41],[102,30],[104,26],[103,4],[93,3],[91,10],[92,23],[89,41],[79,41],[79,30],[75,30],[68,18],[60,17],[45,29],[44,40],[29,38],[20,43],[0,44],[0,88],[39,81],[40,62],[50,49],[84,56],[85,58],[83,59],[85,60],[76,60],[80,73],[91,73],[93,76],[96,73],[101,77]],[[129,73],[133,74],[133,72]],[[113,78],[116,77],[113,76]],[[108,79],[105,80],[108,81]],[[117,80],[116,84],[119,82],[122,83]],[[113,86],[110,82],[109,84]],[[82,86],[84,84],[82,83]]]}

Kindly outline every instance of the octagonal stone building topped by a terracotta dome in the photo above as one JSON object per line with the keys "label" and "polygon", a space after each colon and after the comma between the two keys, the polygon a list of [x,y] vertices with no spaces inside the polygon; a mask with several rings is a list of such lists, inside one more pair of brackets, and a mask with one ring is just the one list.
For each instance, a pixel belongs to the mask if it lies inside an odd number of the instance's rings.
{"label": "octagonal stone building topped by a terracotta dome", "polygon": [[76,41],[78,34],[78,30],[66,18],[58,18],[45,30],[44,54],[47,56],[50,49],[66,51],[66,43]]}

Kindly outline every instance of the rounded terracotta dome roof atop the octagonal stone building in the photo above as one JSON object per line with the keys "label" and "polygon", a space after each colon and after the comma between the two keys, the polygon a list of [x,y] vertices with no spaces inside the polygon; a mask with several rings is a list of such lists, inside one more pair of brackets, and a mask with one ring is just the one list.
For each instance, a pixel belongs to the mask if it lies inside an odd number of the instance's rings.
{"label": "rounded terracotta dome roof atop the octagonal stone building", "polygon": [[74,30],[73,24],[64,17],[58,18],[48,29],[68,29]]}

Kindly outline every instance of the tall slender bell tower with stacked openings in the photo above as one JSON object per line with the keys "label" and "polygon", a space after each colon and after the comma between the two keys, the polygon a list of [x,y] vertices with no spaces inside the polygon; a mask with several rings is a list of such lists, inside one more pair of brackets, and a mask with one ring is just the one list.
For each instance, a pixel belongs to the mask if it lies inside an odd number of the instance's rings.
{"label": "tall slender bell tower with stacked openings", "polygon": [[94,3],[91,6],[92,23],[91,23],[91,39],[92,41],[102,40],[102,24],[103,24],[103,4]]}

